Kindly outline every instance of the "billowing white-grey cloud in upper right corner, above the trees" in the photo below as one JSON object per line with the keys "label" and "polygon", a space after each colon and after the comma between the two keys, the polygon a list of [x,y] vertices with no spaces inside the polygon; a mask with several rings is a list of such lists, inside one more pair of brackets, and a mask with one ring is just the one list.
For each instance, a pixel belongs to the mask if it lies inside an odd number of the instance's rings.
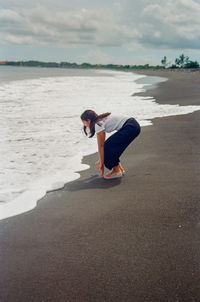
{"label": "billowing white-grey cloud in upper right corner, above the trees", "polygon": [[200,5],[193,0],[169,0],[164,5],[150,4],[142,11],[142,19],[147,26],[140,42],[158,47],[198,48],[199,15]]}

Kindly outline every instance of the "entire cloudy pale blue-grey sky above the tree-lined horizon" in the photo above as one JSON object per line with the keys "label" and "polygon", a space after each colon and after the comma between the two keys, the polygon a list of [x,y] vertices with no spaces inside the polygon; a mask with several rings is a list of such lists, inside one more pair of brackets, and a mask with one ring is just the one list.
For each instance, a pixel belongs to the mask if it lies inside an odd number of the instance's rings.
{"label": "entire cloudy pale blue-grey sky above the tree-lined horizon", "polygon": [[200,0],[0,0],[0,61],[200,62]]}

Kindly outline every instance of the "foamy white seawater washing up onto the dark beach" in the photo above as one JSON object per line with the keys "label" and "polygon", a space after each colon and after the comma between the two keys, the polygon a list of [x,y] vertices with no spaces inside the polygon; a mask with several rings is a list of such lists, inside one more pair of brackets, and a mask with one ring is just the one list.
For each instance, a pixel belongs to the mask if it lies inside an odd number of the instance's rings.
{"label": "foamy white seawater washing up onto the dark beach", "polygon": [[96,152],[97,144],[95,137],[83,134],[80,114],[85,109],[133,116],[141,126],[156,117],[200,110],[134,96],[148,85],[148,78],[136,83],[144,77],[108,70],[0,67],[0,219],[33,209],[46,192],[89,168],[82,158]]}

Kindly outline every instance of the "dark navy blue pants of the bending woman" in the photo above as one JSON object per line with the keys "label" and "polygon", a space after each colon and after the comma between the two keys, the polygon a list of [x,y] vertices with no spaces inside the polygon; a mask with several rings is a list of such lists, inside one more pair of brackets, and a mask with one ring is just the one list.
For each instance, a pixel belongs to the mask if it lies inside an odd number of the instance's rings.
{"label": "dark navy blue pants of the bending woman", "polygon": [[104,165],[111,170],[120,162],[119,157],[128,145],[140,134],[141,128],[134,118],[128,119],[121,129],[104,143]]}

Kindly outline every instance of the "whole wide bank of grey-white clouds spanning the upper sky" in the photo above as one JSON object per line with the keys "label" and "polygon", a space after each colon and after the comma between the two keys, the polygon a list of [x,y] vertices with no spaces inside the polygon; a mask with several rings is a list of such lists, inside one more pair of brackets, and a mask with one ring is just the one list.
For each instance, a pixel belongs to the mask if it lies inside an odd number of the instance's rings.
{"label": "whole wide bank of grey-white clouds spanning the upper sky", "polygon": [[[80,3],[85,3],[85,7]],[[104,1],[101,1],[104,3]],[[1,41],[58,47],[200,47],[200,4],[194,0],[8,0],[0,10]],[[23,5],[22,5],[23,3]],[[106,1],[105,1],[106,3]],[[75,5],[76,4],[76,5]],[[79,6],[77,5],[79,4]]]}

